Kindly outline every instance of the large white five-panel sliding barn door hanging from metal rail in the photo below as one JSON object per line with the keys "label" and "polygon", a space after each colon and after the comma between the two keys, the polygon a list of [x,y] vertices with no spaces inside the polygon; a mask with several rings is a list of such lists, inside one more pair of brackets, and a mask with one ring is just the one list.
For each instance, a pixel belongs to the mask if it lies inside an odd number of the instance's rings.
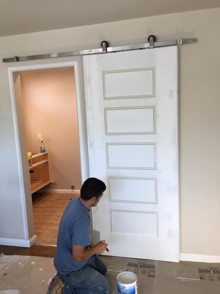
{"label": "large white five-panel sliding barn door hanging from metal rail", "polygon": [[179,262],[177,47],[83,56],[92,209],[109,254]]}

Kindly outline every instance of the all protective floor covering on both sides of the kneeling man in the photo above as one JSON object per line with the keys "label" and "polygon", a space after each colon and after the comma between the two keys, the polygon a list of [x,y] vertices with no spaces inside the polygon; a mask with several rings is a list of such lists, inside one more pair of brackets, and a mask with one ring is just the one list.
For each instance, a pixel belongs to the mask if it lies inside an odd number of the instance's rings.
{"label": "all protective floor covering on both sides of the kneeling man", "polygon": [[[138,294],[219,294],[220,264],[160,262],[101,256],[106,277],[117,294],[116,277],[122,271],[137,275]],[[0,255],[0,294],[45,294],[56,275],[53,258]],[[61,293],[60,293],[61,294]]]}

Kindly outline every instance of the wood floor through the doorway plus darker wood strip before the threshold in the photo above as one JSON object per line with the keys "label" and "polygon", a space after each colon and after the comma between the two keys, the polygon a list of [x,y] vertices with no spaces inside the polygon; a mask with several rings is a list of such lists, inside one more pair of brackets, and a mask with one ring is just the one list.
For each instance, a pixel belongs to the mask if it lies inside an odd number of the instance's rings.
{"label": "wood floor through the doorway plus darker wood strip before the threshold", "polygon": [[[34,193],[32,195],[36,244],[57,244],[57,233],[64,209],[74,194]],[[54,257],[57,247],[33,245],[31,248],[0,245],[5,255]]]}

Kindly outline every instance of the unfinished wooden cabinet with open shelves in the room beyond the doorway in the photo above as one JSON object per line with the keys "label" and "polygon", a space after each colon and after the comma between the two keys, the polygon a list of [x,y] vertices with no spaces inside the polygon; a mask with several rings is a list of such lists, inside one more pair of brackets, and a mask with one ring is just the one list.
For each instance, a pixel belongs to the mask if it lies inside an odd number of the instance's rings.
{"label": "unfinished wooden cabinet with open shelves in the room beyond the doorway", "polygon": [[28,158],[29,170],[31,180],[31,194],[40,190],[50,183],[55,181],[50,180],[50,165],[49,154],[45,153],[32,153],[32,157]]}

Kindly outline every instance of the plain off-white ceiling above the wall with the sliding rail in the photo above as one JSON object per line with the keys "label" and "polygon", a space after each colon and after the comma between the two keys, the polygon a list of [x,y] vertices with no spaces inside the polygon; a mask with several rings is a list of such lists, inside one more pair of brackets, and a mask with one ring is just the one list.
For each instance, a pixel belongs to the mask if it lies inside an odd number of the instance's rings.
{"label": "plain off-white ceiling above the wall with the sliding rail", "polygon": [[0,36],[215,7],[219,0],[0,0]]}

